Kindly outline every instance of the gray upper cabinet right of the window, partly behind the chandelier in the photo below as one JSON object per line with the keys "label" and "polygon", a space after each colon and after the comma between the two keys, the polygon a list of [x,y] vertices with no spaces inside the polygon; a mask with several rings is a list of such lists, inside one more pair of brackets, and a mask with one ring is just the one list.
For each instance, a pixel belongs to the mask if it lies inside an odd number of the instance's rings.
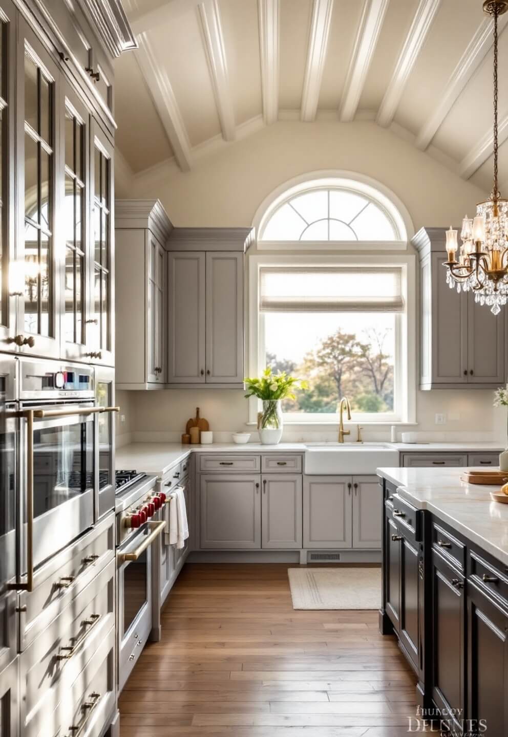
{"label": "gray upper cabinet right of the window, partly behind the chandelier", "polygon": [[446,283],[445,228],[421,228],[420,388],[496,388],[506,383],[504,310],[495,316],[472,292]]}

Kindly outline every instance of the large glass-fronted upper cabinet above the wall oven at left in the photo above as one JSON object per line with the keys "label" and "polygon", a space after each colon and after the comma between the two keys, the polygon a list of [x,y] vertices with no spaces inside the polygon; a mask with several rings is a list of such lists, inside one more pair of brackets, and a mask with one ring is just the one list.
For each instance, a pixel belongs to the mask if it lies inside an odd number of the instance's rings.
{"label": "large glass-fronted upper cabinet above the wall oven at left", "polygon": [[119,0],[0,0],[0,349],[114,365]]}

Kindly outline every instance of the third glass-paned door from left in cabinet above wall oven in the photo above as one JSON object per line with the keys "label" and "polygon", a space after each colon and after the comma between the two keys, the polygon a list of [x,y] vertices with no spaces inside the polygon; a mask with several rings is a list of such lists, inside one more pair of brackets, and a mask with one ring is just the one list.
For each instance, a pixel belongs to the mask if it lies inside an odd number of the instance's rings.
{"label": "third glass-paned door from left in cabinet above wall oven", "polygon": [[[69,360],[85,360],[92,350],[96,318],[91,317],[90,304],[90,202],[89,140],[90,115],[83,103],[65,84],[63,125],[60,146],[64,152],[60,193],[65,212],[65,256],[61,304],[62,356]],[[90,341],[87,345],[87,338]]]}

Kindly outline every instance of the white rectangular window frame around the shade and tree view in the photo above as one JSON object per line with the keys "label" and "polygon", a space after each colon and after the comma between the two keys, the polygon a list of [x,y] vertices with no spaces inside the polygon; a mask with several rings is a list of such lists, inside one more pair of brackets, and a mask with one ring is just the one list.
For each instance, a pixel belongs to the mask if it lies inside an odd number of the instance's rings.
{"label": "white rectangular window frame around the shade and tree view", "polygon": [[[308,242],[307,244],[308,245]],[[363,425],[415,425],[416,424],[416,256],[412,254],[271,254],[249,256],[248,270],[248,375],[260,376],[265,368],[264,318],[260,312],[260,270],[262,267],[288,266],[395,266],[402,269],[402,289],[406,309],[395,318],[394,413],[352,413],[352,422]],[[301,377],[305,378],[305,377]],[[257,423],[261,402],[256,397],[249,399],[249,424]],[[318,413],[291,414],[285,425],[336,425],[338,413],[327,414],[326,419]],[[375,417],[375,419],[373,419]]]}

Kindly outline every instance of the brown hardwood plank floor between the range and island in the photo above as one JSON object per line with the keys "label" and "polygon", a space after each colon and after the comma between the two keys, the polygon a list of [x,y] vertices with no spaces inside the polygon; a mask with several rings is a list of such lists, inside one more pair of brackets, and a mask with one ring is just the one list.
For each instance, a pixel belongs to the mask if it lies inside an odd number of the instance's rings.
{"label": "brown hardwood plank floor between the range and island", "polygon": [[288,565],[184,567],[121,737],[400,737],[415,678],[377,612],[295,612]]}

